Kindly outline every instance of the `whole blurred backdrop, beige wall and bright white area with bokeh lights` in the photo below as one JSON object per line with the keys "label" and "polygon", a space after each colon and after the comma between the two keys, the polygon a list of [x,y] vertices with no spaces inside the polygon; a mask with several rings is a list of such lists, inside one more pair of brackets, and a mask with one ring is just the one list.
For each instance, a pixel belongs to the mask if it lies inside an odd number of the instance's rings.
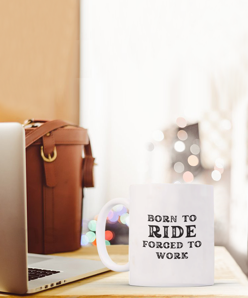
{"label": "whole blurred backdrop, beige wall and bright white area with bokeh lights", "polygon": [[[248,2],[1,0],[0,119],[88,128],[102,206],[130,184],[214,185],[215,243],[247,266]],[[114,207],[106,243],[127,244]]]}

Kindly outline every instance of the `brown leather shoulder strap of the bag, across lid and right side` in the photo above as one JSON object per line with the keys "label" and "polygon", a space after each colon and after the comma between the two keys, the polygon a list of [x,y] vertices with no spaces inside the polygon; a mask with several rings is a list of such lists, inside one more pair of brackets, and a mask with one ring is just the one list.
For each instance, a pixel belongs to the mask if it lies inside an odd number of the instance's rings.
{"label": "brown leather shoulder strap of the bag, across lid and right side", "polygon": [[[70,124],[62,120],[35,120],[31,119],[30,122],[42,122],[43,124],[35,128],[33,131],[26,135],[26,148],[33,144],[35,141],[40,139],[45,134],[53,131],[54,129],[61,128],[64,126],[76,126],[75,124]],[[28,123],[28,122],[27,122]],[[91,151],[91,143],[84,145],[84,154],[85,157],[83,158],[83,173],[82,173],[82,185],[83,187],[94,187],[94,174],[93,174],[93,167],[94,167],[94,157],[92,156]]]}

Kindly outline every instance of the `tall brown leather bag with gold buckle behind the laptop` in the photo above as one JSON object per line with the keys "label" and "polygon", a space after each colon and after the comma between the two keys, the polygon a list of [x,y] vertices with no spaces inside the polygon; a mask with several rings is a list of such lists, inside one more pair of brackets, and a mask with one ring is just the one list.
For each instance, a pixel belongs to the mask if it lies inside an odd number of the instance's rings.
{"label": "tall brown leather bag with gold buckle behind the laptop", "polygon": [[[42,124],[36,127],[37,122]],[[26,124],[32,126],[25,128],[28,251],[76,250],[81,239],[82,188],[94,186],[87,130],[60,120],[32,119]]]}

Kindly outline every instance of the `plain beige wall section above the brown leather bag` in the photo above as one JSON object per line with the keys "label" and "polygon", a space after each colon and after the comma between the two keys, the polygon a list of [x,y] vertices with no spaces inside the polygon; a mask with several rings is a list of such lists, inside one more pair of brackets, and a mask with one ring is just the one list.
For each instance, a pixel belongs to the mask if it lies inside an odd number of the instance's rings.
{"label": "plain beige wall section above the brown leather bag", "polygon": [[79,0],[0,1],[0,122],[79,122]]}

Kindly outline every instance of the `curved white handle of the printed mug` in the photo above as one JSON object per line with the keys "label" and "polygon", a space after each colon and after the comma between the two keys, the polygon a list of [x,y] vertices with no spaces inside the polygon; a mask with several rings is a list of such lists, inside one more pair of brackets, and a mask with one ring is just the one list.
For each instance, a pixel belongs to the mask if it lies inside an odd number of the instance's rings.
{"label": "curved white handle of the printed mug", "polygon": [[115,198],[107,202],[102,207],[97,221],[96,221],[96,246],[98,250],[99,257],[102,263],[109,268],[110,270],[117,272],[129,271],[129,261],[125,265],[118,265],[110,259],[110,256],[107,253],[107,248],[105,244],[105,226],[107,215],[109,211],[116,205],[122,204],[129,209],[129,200],[125,198]]}

